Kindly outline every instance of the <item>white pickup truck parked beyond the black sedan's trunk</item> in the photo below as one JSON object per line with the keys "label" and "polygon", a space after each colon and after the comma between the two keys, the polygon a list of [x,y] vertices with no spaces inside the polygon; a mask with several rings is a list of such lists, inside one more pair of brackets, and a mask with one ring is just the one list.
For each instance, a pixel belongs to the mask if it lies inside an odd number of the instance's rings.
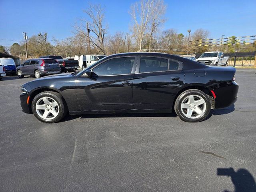
{"label": "white pickup truck parked beyond the black sedan's trunk", "polygon": [[227,65],[228,57],[220,51],[204,52],[196,61],[205,65]]}

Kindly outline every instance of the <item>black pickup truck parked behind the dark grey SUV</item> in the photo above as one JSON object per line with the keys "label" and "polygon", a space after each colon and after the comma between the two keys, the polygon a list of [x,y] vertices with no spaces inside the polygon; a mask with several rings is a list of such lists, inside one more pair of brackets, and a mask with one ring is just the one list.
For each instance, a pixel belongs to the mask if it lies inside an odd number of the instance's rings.
{"label": "black pickup truck parked behind the dark grey SUV", "polygon": [[56,59],[60,64],[61,72],[64,72],[64,73],[75,72],[79,68],[78,61],[63,59],[62,56],[47,55],[47,56],[40,56],[39,58]]}

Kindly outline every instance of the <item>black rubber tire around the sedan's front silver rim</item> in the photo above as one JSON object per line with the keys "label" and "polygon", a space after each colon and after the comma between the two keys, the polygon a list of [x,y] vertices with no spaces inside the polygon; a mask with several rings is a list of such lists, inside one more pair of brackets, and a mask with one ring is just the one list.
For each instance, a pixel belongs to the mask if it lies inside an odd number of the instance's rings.
{"label": "black rubber tire around the sedan's front silver rim", "polygon": [[[38,102],[38,100],[40,100],[44,97],[52,98],[58,103],[58,115],[52,120],[46,120],[46,119],[40,117],[36,111],[36,103]],[[66,114],[68,112],[68,107],[66,105],[64,98],[61,96],[61,94],[59,94],[57,92],[52,92],[52,91],[46,91],[46,92],[42,92],[42,93],[39,93],[38,95],[36,95],[32,101],[31,108],[32,108],[32,112],[33,112],[34,116],[38,120],[40,120],[42,122],[46,122],[46,123],[56,123],[56,122],[60,121],[62,118],[64,118],[64,116],[66,116]]]}

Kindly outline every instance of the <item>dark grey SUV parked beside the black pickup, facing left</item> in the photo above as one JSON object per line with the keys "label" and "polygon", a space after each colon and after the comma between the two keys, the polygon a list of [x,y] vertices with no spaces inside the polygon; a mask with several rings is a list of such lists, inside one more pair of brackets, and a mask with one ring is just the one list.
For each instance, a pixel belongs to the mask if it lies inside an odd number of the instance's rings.
{"label": "dark grey SUV parked beside the black pickup, facing left", "polygon": [[60,73],[60,64],[55,59],[30,59],[17,67],[17,75],[23,78],[24,75],[40,78],[43,75]]}

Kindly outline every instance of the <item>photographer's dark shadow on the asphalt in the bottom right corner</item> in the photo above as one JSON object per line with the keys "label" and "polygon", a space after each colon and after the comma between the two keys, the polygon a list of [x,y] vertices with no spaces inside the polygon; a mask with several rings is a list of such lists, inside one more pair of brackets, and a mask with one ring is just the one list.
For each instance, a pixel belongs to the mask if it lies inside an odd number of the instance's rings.
{"label": "photographer's dark shadow on the asphalt in the bottom right corner", "polygon": [[[230,168],[217,168],[218,176],[228,176],[234,184],[234,192],[256,192],[255,180],[250,172],[244,168],[235,171]],[[224,192],[229,192],[224,190]]]}

